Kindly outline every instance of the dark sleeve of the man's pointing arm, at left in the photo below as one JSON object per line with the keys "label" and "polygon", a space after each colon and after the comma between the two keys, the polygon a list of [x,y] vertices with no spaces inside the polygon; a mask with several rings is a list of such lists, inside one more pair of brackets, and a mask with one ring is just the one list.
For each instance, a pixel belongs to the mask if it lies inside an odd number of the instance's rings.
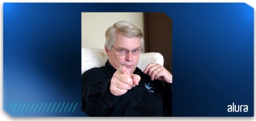
{"label": "dark sleeve of the man's pointing arm, at left", "polygon": [[82,75],[82,110],[89,116],[107,113],[118,97],[109,92],[111,77],[90,70]]}

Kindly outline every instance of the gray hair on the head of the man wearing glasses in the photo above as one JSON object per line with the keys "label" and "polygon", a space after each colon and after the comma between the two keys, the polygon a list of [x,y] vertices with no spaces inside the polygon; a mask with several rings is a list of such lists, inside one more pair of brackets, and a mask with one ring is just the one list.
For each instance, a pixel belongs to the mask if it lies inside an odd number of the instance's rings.
{"label": "gray hair on the head of the man wearing glasses", "polygon": [[111,50],[112,45],[114,45],[116,39],[116,33],[121,33],[122,35],[126,35],[129,38],[139,37],[141,45],[143,44],[143,34],[139,28],[137,28],[134,24],[128,21],[118,21],[113,24],[105,33],[106,42],[105,47],[108,50]]}

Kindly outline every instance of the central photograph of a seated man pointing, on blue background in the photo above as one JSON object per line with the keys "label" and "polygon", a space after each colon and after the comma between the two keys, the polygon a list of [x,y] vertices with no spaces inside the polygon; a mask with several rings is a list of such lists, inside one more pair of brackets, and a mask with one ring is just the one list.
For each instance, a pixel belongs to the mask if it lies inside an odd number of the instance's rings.
{"label": "central photograph of a seated man pointing, on blue background", "polygon": [[164,13],[82,13],[82,111],[171,117],[171,32]]}

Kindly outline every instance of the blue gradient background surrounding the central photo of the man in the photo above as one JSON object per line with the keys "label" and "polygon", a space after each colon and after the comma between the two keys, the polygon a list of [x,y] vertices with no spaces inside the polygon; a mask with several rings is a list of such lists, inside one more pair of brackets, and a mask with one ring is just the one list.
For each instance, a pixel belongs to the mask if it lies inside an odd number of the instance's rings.
{"label": "blue gradient background surrounding the central photo of the man", "polygon": [[[87,116],[80,102],[81,12],[164,12],[173,21],[173,116],[253,116],[254,13],[245,3],[4,3],[3,8],[3,101],[11,116]],[[229,113],[233,102],[249,111]]]}

